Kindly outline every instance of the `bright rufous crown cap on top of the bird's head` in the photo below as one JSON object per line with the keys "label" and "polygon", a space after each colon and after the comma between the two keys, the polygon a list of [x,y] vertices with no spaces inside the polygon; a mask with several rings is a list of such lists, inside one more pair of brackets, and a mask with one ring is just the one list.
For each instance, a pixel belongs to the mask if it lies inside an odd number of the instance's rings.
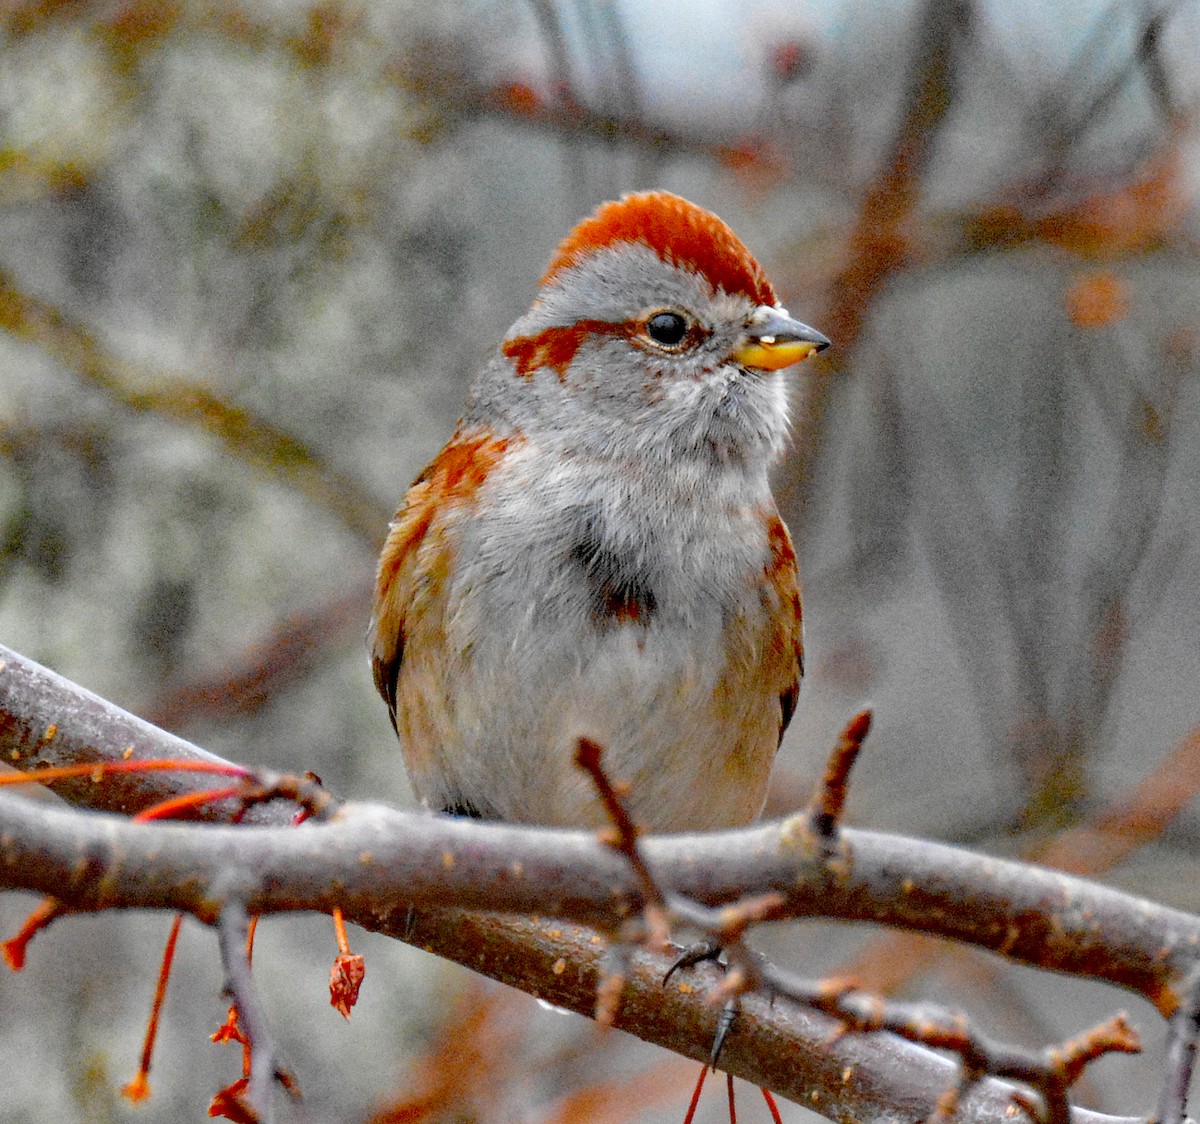
{"label": "bright rufous crown cap on top of the bird's head", "polygon": [[722,220],[665,191],[604,204],[564,239],[541,283],[550,284],[589,254],[620,242],[648,246],[664,262],[702,276],[714,291],[738,293],[755,305],[779,302],[762,266]]}

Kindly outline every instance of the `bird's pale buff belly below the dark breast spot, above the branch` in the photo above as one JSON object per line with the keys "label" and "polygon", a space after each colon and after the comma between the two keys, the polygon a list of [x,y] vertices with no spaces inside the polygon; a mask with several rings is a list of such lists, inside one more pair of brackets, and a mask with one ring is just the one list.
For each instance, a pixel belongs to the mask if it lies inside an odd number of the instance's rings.
{"label": "bird's pale buff belly below the dark breast spot, above the branch", "polygon": [[[626,623],[586,626],[563,642],[527,637],[505,651],[478,647],[448,684],[457,741],[445,806],[500,819],[601,827],[590,779],[575,765],[581,737],[628,786],[652,831],[709,830],[758,813],[778,745],[778,699],[737,675],[720,629],[678,635]],[[437,803],[437,801],[433,801]]]}

